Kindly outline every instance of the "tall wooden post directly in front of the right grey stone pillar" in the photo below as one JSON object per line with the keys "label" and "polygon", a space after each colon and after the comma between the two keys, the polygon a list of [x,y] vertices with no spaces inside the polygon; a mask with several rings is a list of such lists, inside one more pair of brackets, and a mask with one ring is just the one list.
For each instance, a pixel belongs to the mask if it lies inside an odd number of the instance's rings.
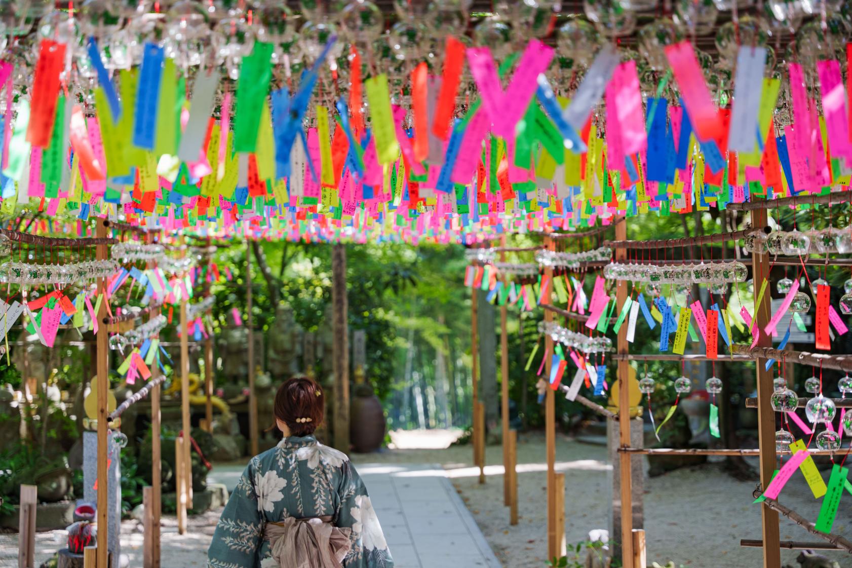
{"label": "tall wooden post directly in front of the right grey stone pillar", "polygon": [[[627,240],[627,221],[619,219],[615,223],[615,240]],[[615,262],[627,258],[623,248],[615,249]],[[618,281],[615,288],[616,304],[619,311],[627,300],[627,282]],[[619,353],[627,353],[630,343],[627,341],[627,326],[619,329],[617,343]],[[619,447],[630,448],[630,362],[619,359]],[[644,568],[634,565],[633,558],[633,478],[632,458],[629,454],[619,454],[619,475],[621,480],[621,561],[624,568]]]}

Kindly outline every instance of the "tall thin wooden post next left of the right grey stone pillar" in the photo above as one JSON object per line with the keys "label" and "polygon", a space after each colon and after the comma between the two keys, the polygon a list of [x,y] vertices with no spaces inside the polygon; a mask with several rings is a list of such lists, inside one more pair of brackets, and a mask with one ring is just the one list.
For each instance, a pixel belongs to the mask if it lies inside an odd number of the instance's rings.
{"label": "tall thin wooden post next left of the right grey stone pillar", "polygon": [[[555,243],[550,237],[544,237],[544,248],[556,250]],[[553,279],[553,269],[548,266],[544,268],[544,275]],[[550,305],[550,298],[541,298],[542,305]],[[553,321],[553,312],[544,310],[544,322]],[[545,376],[550,376],[550,354],[553,353],[553,339],[549,334],[544,335],[544,366],[547,370]],[[557,540],[557,516],[556,503],[556,391],[547,389],[544,396],[544,432],[547,454],[547,558],[554,559],[559,554],[559,543]],[[564,497],[563,497],[564,499]],[[564,523],[562,524],[564,531]]]}

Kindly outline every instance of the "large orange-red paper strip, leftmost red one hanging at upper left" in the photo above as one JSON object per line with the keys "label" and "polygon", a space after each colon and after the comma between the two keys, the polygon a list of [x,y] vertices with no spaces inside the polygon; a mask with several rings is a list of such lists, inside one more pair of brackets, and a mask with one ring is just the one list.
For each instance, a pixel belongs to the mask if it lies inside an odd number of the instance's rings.
{"label": "large orange-red paper strip, leftmost red one hanging at upper left", "polygon": [[26,140],[33,146],[47,148],[50,144],[59,99],[59,76],[64,64],[65,43],[43,39],[32,81],[30,124],[26,127]]}

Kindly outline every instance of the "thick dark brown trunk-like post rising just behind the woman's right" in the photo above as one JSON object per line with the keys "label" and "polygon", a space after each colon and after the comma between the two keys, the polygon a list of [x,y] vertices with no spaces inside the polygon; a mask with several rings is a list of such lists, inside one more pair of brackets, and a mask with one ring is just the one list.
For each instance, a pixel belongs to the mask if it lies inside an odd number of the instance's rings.
{"label": "thick dark brown trunk-like post rising just behind the woman's right", "polygon": [[346,293],[346,245],[331,248],[331,304],[334,305],[334,446],[349,451],[349,303]]}

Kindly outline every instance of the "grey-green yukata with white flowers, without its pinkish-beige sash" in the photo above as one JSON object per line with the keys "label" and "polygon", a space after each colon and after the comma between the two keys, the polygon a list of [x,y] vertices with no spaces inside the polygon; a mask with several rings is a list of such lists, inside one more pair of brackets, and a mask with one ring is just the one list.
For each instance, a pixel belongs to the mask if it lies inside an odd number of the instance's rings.
{"label": "grey-green yukata with white flowers, without its pinkish-beige sash", "polygon": [[344,566],[393,568],[388,542],[358,472],[346,454],[313,436],[285,438],[251,459],[216,525],[207,568],[275,567],[263,524],[323,516],[352,529],[352,549]]}

